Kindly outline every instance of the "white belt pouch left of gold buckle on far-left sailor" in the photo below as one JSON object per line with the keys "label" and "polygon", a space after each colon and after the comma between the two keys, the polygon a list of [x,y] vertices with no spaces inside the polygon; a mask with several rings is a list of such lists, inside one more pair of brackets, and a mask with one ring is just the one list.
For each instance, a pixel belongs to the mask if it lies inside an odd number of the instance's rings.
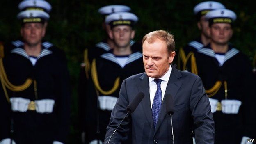
{"label": "white belt pouch left of gold buckle on far-left sailor", "polygon": [[11,102],[11,110],[14,112],[26,112],[28,104],[30,103],[29,99],[21,98],[21,97],[13,97],[10,98]]}

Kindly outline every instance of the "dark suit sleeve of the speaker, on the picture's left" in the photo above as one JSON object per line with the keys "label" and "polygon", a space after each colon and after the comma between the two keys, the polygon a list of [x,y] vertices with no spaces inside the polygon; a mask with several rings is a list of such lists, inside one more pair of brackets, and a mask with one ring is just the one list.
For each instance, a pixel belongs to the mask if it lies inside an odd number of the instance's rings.
{"label": "dark suit sleeve of the speaker, on the picture's left", "polygon": [[[104,144],[107,144],[108,140],[110,139],[110,136],[117,128],[119,123],[122,121],[122,119],[125,117],[127,113],[126,107],[128,106],[128,104],[129,102],[126,91],[126,80],[124,80],[121,85],[119,98],[111,113],[110,123],[107,126],[107,133],[105,135]],[[121,123],[120,127],[115,132],[113,137],[111,138],[110,144],[121,144],[121,142],[125,141],[128,138],[127,135],[129,131],[129,122],[130,116],[128,115],[126,119]]]}

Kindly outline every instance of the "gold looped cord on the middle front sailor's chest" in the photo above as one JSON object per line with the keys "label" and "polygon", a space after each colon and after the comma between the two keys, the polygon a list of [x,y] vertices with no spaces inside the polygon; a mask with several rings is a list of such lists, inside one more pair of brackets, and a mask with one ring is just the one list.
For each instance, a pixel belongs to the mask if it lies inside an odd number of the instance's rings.
{"label": "gold looped cord on the middle front sailor's chest", "polygon": [[116,91],[119,87],[120,77],[117,77],[112,89],[110,89],[109,91],[104,91],[101,88],[99,81],[98,81],[98,73],[97,73],[97,69],[96,69],[96,59],[93,59],[92,64],[91,64],[91,77],[92,77],[92,81],[94,82],[95,88],[103,95],[110,95],[114,91]]}

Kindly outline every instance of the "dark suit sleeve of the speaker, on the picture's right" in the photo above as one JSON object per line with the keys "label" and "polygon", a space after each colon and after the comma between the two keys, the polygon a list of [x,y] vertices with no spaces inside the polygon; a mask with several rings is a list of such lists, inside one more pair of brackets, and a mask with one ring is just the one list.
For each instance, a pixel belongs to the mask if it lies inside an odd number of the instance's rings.
{"label": "dark suit sleeve of the speaker, on the picture's right", "polygon": [[196,144],[214,144],[215,123],[210,102],[201,78],[195,80],[190,95],[190,110],[194,120]]}

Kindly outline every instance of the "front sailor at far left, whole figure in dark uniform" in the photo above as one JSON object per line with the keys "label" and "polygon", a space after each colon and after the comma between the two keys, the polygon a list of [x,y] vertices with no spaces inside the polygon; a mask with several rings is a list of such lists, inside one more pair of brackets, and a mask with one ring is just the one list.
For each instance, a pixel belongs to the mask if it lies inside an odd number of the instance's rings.
{"label": "front sailor at far left, whole figure in dark uniform", "polygon": [[22,40],[0,58],[0,144],[64,144],[69,74],[62,50],[42,43],[50,16],[25,10],[17,17]]}

